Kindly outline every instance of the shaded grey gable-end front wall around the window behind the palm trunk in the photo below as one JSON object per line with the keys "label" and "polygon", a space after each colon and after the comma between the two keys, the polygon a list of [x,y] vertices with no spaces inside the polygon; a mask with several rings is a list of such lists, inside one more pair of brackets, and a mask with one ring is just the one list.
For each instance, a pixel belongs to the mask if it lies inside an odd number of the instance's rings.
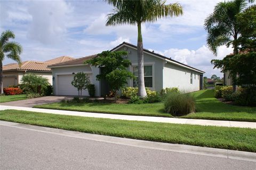
{"label": "shaded grey gable-end front wall around the window behind the palm trunk", "polygon": [[[129,46],[122,46],[116,51],[124,51],[124,47],[126,47],[126,51],[130,52],[125,59],[131,60],[132,66],[129,68],[129,71],[132,72],[132,67],[138,66],[137,50]],[[153,66],[153,87],[150,90],[161,91],[163,88],[163,60],[144,53],[144,66],[148,65]],[[128,81],[128,86],[133,86],[132,79]]]}

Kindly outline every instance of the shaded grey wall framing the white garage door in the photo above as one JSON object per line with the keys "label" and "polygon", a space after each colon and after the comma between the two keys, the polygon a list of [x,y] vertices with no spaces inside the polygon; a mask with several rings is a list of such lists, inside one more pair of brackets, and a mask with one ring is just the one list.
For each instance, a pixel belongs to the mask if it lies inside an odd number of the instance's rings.
{"label": "shaded grey wall framing the white garage door", "polygon": [[99,81],[96,80],[96,75],[99,74],[99,68],[84,65],[84,66],[75,66],[75,67],[52,68],[51,70],[52,70],[52,75],[54,77],[54,80],[52,83],[54,95],[58,95],[58,75],[72,75],[73,73],[76,74],[77,72],[92,74],[91,83],[95,85],[95,96],[100,95],[100,83]]}

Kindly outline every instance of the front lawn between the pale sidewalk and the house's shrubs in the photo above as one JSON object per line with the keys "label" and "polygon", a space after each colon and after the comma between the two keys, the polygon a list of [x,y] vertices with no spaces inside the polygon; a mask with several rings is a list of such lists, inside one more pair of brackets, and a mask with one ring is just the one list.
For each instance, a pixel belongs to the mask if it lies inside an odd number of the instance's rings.
{"label": "front lawn between the pale sidewalk and the house's shrubs", "polygon": [[[195,97],[197,112],[180,118],[256,122],[256,107],[241,107],[222,103],[214,98],[213,90],[202,90],[191,94]],[[149,104],[51,103],[35,107],[106,114],[173,117],[165,113],[162,102]]]}

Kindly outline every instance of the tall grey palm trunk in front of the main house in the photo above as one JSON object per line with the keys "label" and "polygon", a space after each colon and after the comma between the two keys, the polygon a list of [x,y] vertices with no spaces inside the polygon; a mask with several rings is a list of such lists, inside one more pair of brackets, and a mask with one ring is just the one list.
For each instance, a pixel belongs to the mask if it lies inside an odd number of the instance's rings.
{"label": "tall grey palm trunk in front of the main house", "polygon": [[144,83],[144,56],[143,56],[143,43],[142,43],[142,34],[141,34],[141,23],[138,23],[138,44],[137,44],[137,53],[138,53],[138,95],[142,98],[147,96],[145,83]]}

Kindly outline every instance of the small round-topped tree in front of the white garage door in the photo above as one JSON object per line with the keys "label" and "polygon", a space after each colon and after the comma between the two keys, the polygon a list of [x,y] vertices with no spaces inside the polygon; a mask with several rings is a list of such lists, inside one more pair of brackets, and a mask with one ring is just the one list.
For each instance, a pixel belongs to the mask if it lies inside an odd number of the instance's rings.
{"label": "small round-topped tree in front of the white garage door", "polygon": [[71,85],[77,88],[79,99],[82,98],[82,91],[88,88],[90,82],[90,77],[84,72],[77,72],[71,82]]}

